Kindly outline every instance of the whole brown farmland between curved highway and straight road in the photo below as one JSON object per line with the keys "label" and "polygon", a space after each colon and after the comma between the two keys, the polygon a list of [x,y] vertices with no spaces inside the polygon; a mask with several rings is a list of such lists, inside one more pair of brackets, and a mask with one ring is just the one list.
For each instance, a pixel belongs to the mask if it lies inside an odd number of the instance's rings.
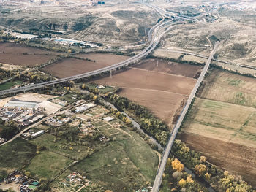
{"label": "whole brown farmland between curved highway and straight road", "polygon": [[[157,66],[158,62],[158,66]],[[146,60],[137,66],[94,82],[121,87],[121,96],[136,101],[172,124],[195,85],[200,66]]]}

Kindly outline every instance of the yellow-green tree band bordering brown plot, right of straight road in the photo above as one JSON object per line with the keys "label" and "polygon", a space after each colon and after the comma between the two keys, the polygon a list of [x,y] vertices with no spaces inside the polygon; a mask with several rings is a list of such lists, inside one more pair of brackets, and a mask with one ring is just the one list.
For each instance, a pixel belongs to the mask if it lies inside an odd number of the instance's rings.
{"label": "yellow-green tree band bordering brown plot, right of straight road", "polygon": [[192,169],[200,179],[205,180],[216,191],[219,192],[252,192],[252,187],[248,185],[241,176],[231,175],[223,172],[217,166],[209,164],[206,157],[201,156],[194,150],[190,150],[184,142],[176,139],[173,143],[172,153],[181,160],[189,169]]}

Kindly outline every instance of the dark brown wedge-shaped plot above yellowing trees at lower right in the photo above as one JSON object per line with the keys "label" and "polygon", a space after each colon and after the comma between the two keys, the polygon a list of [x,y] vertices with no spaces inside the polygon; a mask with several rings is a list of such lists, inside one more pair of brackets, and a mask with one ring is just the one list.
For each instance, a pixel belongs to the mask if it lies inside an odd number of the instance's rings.
{"label": "dark brown wedge-shaped plot above yellowing trees at lower right", "polygon": [[192,150],[205,155],[211,164],[232,174],[241,175],[246,182],[256,188],[255,148],[186,133],[181,134],[181,140]]}

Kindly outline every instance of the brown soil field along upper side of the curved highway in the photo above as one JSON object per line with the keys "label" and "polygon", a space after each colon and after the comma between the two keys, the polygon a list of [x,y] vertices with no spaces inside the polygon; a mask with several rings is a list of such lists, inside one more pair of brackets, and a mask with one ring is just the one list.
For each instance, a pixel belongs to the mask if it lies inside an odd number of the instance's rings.
{"label": "brown soil field along upper side of the curved highway", "polygon": [[91,72],[105,66],[117,64],[118,62],[124,61],[129,58],[128,56],[104,53],[80,54],[76,56],[80,58],[89,58],[92,61],[66,58],[62,61],[57,62],[56,64],[45,66],[42,70],[45,72],[50,72],[50,74],[53,74],[53,76],[55,77],[63,78],[75,74]]}

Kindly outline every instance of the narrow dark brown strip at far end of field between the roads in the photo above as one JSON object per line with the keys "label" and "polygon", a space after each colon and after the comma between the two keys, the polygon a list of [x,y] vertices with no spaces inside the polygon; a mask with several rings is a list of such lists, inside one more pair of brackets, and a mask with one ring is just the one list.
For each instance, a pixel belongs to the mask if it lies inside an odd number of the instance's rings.
{"label": "narrow dark brown strip at far end of field between the roads", "polygon": [[194,78],[200,72],[201,66],[177,64],[162,59],[146,59],[135,66],[135,68]]}

